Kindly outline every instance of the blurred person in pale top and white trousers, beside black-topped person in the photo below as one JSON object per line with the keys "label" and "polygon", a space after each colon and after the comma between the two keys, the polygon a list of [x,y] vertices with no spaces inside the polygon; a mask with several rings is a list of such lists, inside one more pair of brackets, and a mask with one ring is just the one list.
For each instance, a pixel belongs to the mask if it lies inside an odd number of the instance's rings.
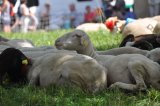
{"label": "blurred person in pale top and white trousers, beside black-topped person", "polygon": [[28,9],[26,3],[27,3],[27,0],[21,0],[21,5],[20,5],[20,11],[21,11],[21,14],[22,14],[22,17],[21,17],[21,22],[22,22],[21,31],[24,32],[24,33],[28,32],[29,21],[30,21],[29,9]]}

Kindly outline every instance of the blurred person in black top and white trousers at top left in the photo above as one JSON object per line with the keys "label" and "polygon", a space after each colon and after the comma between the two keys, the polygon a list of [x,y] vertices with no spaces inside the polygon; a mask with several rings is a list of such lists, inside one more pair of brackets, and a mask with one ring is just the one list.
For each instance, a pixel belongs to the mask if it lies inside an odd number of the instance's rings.
{"label": "blurred person in black top and white trousers at top left", "polygon": [[27,0],[27,6],[29,8],[31,19],[33,20],[31,30],[36,30],[38,26],[37,8],[39,6],[39,0]]}

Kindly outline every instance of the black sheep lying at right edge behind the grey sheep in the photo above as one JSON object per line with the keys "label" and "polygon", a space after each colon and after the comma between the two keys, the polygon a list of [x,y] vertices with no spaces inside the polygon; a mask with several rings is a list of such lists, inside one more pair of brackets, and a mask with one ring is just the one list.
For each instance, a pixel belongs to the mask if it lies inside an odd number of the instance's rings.
{"label": "black sheep lying at right edge behind the grey sheep", "polygon": [[[123,39],[119,47],[132,46],[143,50],[151,50],[160,47],[160,37],[158,34],[146,34],[140,35],[134,38],[134,35],[130,34]],[[129,42],[129,43],[128,43]]]}

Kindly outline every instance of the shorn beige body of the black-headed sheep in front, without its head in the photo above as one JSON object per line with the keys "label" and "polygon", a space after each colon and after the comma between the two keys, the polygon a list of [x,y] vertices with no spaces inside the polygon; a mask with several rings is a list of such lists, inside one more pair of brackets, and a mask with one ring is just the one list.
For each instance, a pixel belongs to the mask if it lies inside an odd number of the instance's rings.
{"label": "shorn beige body of the black-headed sheep in front, without its head", "polygon": [[30,85],[47,87],[56,85],[77,85],[84,91],[95,93],[105,89],[107,70],[95,59],[80,55],[54,53],[33,60],[29,69]]}

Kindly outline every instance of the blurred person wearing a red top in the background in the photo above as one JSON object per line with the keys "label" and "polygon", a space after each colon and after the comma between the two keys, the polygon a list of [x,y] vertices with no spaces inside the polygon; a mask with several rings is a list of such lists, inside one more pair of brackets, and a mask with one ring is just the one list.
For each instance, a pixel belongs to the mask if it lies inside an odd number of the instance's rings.
{"label": "blurred person wearing a red top in the background", "polygon": [[96,14],[91,11],[90,6],[86,6],[86,13],[84,14],[84,22],[94,22]]}

